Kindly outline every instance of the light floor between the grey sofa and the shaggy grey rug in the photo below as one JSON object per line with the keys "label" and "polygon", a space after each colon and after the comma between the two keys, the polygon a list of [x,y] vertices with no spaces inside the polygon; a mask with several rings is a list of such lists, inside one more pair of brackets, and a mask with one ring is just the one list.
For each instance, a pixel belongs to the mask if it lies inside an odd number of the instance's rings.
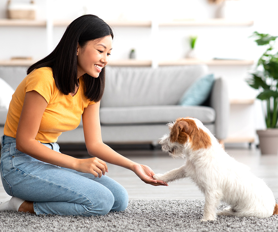
{"label": "light floor between the grey sofa and the shaggy grey rug", "polygon": [[[142,148],[115,148],[117,152],[141,164],[148,165],[155,173],[164,173],[183,165],[183,159],[173,159],[160,149]],[[248,165],[251,171],[263,178],[267,185],[278,198],[278,156],[261,155],[256,148],[226,148],[228,154],[236,160]],[[82,154],[84,151],[71,151],[71,153]],[[89,157],[89,156],[87,156]],[[204,199],[199,189],[189,179],[179,180],[169,183],[169,186],[151,186],[142,182],[132,171],[108,164],[108,176],[123,185],[128,191],[130,199]],[[6,194],[0,185],[0,201],[8,200],[10,196]]]}

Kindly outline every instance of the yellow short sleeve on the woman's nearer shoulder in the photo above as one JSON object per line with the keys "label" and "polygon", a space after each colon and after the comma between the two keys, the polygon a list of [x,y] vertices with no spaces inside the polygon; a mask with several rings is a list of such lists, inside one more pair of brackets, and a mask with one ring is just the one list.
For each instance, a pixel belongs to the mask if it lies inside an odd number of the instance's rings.
{"label": "yellow short sleeve on the woman's nearer shoulder", "polygon": [[49,103],[55,86],[52,70],[50,68],[39,68],[28,75],[25,92],[35,90]]}

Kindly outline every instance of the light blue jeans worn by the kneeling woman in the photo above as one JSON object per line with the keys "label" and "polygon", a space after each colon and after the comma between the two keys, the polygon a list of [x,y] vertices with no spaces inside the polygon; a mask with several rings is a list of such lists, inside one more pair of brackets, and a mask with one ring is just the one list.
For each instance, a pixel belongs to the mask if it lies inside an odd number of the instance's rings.
{"label": "light blue jeans worn by the kneeling woman", "polygon": [[[34,202],[39,214],[105,215],[123,211],[127,191],[107,176],[61,168],[39,161],[16,149],[15,138],[3,135],[0,173],[7,194]],[[57,143],[44,144],[59,152]]]}

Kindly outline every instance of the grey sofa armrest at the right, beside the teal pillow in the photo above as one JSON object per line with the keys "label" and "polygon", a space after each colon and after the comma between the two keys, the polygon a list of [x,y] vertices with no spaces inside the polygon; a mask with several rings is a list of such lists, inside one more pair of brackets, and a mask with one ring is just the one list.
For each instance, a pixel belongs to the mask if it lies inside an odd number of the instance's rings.
{"label": "grey sofa armrest at the right, beside the teal pillow", "polygon": [[210,106],[216,112],[215,137],[218,140],[224,140],[228,135],[230,116],[228,84],[225,79],[215,79],[210,96]]}

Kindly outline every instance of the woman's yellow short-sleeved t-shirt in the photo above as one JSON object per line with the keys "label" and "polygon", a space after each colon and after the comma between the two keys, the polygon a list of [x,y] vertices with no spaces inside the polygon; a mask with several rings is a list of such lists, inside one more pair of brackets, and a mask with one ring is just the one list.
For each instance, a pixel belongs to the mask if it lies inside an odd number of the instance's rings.
{"label": "woman's yellow short-sleeved t-shirt", "polygon": [[94,104],[84,95],[83,77],[79,78],[79,88],[74,96],[64,95],[56,87],[51,68],[36,69],[23,79],[13,94],[4,135],[15,138],[25,93],[32,90],[43,96],[48,103],[36,135],[36,140],[42,143],[56,142],[63,131],[78,127],[84,108]]}

